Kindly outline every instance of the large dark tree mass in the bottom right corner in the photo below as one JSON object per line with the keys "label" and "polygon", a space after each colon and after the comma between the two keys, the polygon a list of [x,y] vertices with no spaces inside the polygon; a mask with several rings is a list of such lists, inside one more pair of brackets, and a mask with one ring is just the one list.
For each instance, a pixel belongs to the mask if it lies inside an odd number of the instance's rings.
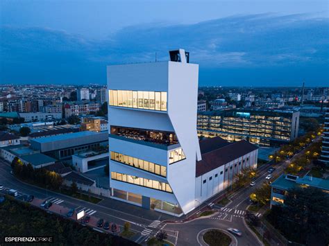
{"label": "large dark tree mass in the bottom right corner", "polygon": [[268,216],[288,240],[307,245],[329,243],[329,196],[319,188],[292,188],[282,206]]}

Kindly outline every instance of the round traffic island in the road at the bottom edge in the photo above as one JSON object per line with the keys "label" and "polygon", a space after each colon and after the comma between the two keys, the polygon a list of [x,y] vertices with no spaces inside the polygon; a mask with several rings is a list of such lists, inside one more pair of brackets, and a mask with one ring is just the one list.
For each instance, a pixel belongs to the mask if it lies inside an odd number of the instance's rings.
{"label": "round traffic island in the road at the bottom edge", "polygon": [[208,228],[199,231],[196,236],[199,245],[209,246],[236,246],[237,238],[228,232],[218,228]]}

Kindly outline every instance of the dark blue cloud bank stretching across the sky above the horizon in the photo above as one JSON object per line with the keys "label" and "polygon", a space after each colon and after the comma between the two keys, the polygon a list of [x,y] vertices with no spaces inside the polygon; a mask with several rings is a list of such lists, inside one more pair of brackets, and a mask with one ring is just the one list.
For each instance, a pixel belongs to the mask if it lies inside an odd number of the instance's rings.
{"label": "dark blue cloud bank stretching across the sky above the horizon", "polygon": [[262,80],[307,78],[325,85],[328,30],[328,19],[273,14],[128,26],[103,40],[49,28],[2,26],[0,82],[105,83],[108,64],[151,62],[155,53],[158,60],[168,60],[167,51],[183,48],[200,64],[201,84],[237,85],[241,80],[256,85],[261,74]]}

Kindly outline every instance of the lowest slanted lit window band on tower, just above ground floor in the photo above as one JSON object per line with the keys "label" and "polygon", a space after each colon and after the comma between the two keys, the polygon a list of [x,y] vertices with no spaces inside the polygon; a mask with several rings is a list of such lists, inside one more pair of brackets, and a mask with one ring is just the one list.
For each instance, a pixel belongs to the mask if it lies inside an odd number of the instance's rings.
{"label": "lowest slanted lit window band on tower, just above ground floor", "polygon": [[133,175],[126,175],[124,173],[111,172],[111,179],[121,182],[126,182],[129,184],[135,184],[138,186],[144,186],[146,188],[153,188],[159,191],[173,193],[168,183],[160,182],[152,179],[145,179],[144,177],[137,177]]}

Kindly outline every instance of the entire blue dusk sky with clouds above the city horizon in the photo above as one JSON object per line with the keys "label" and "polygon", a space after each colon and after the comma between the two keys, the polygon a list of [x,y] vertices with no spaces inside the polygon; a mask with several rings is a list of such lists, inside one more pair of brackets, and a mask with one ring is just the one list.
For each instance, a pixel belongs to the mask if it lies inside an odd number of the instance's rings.
{"label": "entire blue dusk sky with clouds above the city horizon", "polygon": [[329,86],[321,1],[0,1],[0,83],[106,83],[183,48],[199,85]]}

